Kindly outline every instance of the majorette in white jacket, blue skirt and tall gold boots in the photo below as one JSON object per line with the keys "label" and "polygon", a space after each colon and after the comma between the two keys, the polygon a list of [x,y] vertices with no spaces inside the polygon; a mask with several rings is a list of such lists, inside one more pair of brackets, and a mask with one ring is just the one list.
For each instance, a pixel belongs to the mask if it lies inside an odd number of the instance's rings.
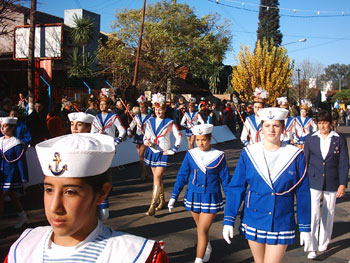
{"label": "majorette in white jacket, blue skirt and tall gold boots", "polygon": [[[163,174],[168,166],[168,156],[173,155],[180,148],[181,133],[175,122],[165,116],[165,97],[157,93],[152,95],[152,104],[156,117],[146,123],[143,143],[148,147],[145,152],[145,163],[151,167],[153,173],[153,192],[151,205],[146,215],[153,216],[165,204],[163,189]],[[175,137],[175,145],[171,148],[170,132]],[[158,203],[158,206],[157,206]]]}

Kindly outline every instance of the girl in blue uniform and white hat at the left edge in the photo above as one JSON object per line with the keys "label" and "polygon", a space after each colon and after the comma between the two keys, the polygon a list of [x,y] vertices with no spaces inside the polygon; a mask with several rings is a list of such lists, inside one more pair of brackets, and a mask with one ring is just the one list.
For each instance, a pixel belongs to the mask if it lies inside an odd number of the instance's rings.
{"label": "girl in blue uniform and white hat at the left edge", "polygon": [[0,217],[4,210],[4,198],[8,195],[18,211],[18,221],[15,229],[21,228],[27,222],[27,215],[23,210],[17,192],[23,192],[23,184],[27,183],[28,169],[25,157],[25,144],[14,136],[17,118],[0,118]]}

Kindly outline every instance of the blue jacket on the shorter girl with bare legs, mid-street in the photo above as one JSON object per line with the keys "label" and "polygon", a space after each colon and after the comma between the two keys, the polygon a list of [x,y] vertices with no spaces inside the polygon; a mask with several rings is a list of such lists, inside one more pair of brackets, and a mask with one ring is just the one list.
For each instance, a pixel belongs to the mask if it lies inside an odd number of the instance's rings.
{"label": "blue jacket on the shorter girl with bare legs, mid-street", "polygon": [[177,199],[182,189],[188,184],[188,190],[197,193],[217,193],[221,191],[220,182],[226,196],[230,175],[226,163],[225,153],[211,149],[212,154],[207,164],[196,160],[198,148],[189,150],[177,174],[171,198]]}

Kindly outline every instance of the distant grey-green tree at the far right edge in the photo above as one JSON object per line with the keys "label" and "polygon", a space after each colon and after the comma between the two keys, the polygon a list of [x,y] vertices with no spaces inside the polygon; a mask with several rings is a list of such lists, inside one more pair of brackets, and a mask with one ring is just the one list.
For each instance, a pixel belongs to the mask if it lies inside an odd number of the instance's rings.
{"label": "distant grey-green tree at the far right edge", "polygon": [[335,89],[350,89],[350,65],[329,65],[321,76],[324,81],[332,81]]}

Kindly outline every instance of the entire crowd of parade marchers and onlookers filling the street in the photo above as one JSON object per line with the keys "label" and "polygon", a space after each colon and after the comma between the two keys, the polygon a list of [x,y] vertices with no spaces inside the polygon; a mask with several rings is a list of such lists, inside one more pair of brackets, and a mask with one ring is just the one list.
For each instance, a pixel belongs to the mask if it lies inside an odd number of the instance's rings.
{"label": "entire crowd of parade marchers and onlookers filling the street", "polygon": [[[63,99],[51,103],[48,113],[38,100],[34,111],[22,116],[23,96],[15,108],[10,99],[4,99],[0,216],[8,195],[18,210],[15,228],[26,223],[17,193],[30,179],[23,153],[27,147],[36,147],[45,175],[44,208],[50,223],[25,230],[6,262],[39,258],[44,262],[168,262],[162,244],[115,232],[102,220],[109,217],[110,165],[127,136],[133,137],[139,154],[141,180],[147,179],[146,166],[153,175],[146,215],[154,216],[164,208],[163,176],[170,156],[180,147],[181,129],[189,149],[168,209],[172,212],[187,185],[184,206],[197,226],[195,263],[210,260],[209,230],[219,211],[225,211],[223,237],[232,242],[242,202],[239,231],[248,240],[255,262],[282,262],[287,246],[295,242],[296,226],[307,257],[317,258],[330,243],[336,199],[345,195],[347,143],[332,130],[331,112],[320,110],[314,119],[308,116],[312,107],[308,100],[296,108],[281,97],[276,107],[270,107],[267,98],[268,93],[257,88],[252,103],[236,108],[232,102],[194,97],[188,102],[179,97],[175,103],[160,93],[150,101],[141,95],[135,103],[92,96],[86,109],[79,101]],[[233,133],[240,132],[245,146],[232,176],[225,153],[210,144],[213,126],[223,124]]]}

